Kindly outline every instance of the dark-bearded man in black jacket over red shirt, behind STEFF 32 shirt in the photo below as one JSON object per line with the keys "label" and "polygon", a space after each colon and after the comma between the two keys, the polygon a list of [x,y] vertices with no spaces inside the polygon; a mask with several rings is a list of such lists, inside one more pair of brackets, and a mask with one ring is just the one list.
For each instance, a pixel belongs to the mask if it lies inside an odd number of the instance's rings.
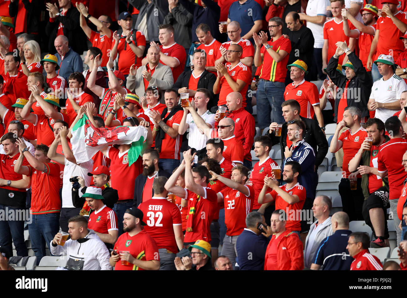
{"label": "dark-bearded man in black jacket over red shirt, behind STEFF 32 shirt", "polygon": [[160,155],[153,149],[148,149],[143,153],[143,173],[138,175],[134,183],[134,203],[137,207],[142,202],[154,196],[153,181],[155,177],[164,176],[169,178],[170,173],[158,168]]}

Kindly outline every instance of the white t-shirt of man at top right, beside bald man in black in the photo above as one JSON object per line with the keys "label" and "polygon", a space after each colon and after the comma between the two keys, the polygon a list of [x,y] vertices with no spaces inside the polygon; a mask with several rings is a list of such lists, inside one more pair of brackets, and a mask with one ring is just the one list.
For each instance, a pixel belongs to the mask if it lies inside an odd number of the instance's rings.
{"label": "white t-shirt of man at top right, beside bald man in black", "polygon": [[[306,6],[306,14],[315,17],[317,15],[327,16],[326,6],[330,6],[329,0],[309,0]],[[324,45],[324,24],[306,22],[314,36],[314,48],[322,49]]]}

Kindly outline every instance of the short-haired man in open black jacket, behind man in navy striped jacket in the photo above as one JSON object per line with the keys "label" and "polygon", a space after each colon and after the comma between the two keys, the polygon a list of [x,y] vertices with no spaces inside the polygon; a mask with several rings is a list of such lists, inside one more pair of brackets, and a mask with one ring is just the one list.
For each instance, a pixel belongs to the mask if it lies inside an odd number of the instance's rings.
{"label": "short-haired man in open black jacket, behind man in navy striped jacket", "polygon": [[[316,120],[300,116],[300,104],[295,99],[283,101],[281,106],[282,116],[286,121],[286,123],[282,125],[281,136],[275,136],[274,134],[274,131],[276,130],[276,127],[278,125],[278,123],[276,122],[270,124],[267,135],[270,136],[273,144],[280,143],[281,153],[283,155],[285,147],[289,147],[291,145],[287,144],[287,123],[295,119],[301,119],[302,121],[304,121],[304,142],[311,145],[311,147],[314,149],[316,170],[324,160],[326,153],[328,153],[328,141],[326,140],[324,132],[321,130]],[[318,181],[318,179],[316,181]]]}

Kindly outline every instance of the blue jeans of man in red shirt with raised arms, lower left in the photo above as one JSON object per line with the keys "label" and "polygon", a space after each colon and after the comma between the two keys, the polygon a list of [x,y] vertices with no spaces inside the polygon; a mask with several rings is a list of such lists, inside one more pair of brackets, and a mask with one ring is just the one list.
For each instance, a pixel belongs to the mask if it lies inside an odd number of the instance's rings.
{"label": "blue jeans of man in red shirt with raised arms, lower left", "polygon": [[37,257],[37,266],[42,257],[46,255],[45,247],[48,247],[59,231],[59,213],[31,214],[33,222],[28,224],[31,247]]}

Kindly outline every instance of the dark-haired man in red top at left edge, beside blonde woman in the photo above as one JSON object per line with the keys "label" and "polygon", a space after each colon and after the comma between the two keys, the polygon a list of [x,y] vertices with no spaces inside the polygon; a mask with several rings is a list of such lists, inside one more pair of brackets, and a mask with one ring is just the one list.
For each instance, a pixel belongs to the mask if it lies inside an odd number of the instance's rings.
{"label": "dark-haired man in red top at left edge, beside blonde woman", "polygon": [[18,71],[20,65],[20,56],[9,52],[4,57],[4,70],[7,73],[3,76],[4,85],[3,92],[15,101],[19,97],[28,98],[30,92],[27,89],[27,76]]}

